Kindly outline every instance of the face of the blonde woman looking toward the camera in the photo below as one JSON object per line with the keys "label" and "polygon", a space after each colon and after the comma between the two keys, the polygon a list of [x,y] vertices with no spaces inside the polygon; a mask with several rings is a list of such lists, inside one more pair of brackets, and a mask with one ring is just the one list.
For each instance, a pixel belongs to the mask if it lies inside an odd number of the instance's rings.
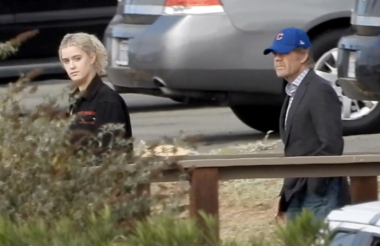
{"label": "face of the blonde woman looking toward the camera", "polygon": [[63,67],[69,78],[76,83],[83,83],[94,71],[92,64],[95,54],[88,54],[78,46],[71,45],[60,50]]}

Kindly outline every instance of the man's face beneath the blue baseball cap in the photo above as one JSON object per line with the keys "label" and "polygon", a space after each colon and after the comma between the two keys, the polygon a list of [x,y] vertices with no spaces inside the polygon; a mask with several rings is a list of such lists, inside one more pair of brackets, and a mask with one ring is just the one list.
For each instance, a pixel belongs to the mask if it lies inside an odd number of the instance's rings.
{"label": "man's face beneath the blue baseball cap", "polygon": [[274,69],[278,77],[287,81],[294,80],[305,68],[304,62],[307,59],[306,51],[292,50],[286,54],[274,52]]}

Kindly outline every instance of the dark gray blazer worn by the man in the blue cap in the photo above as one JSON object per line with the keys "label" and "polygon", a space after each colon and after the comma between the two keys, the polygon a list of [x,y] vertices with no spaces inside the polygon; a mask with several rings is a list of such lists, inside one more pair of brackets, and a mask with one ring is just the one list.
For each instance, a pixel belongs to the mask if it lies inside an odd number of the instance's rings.
{"label": "dark gray blazer worn by the man in the blue cap", "polygon": [[[284,119],[289,96],[282,105],[279,130],[285,156],[341,155],[343,136],[340,101],[329,82],[310,69],[298,86],[291,103],[286,130]],[[339,203],[350,203],[346,177],[285,178],[280,195],[282,209],[286,211],[290,198],[308,187],[323,195],[331,178],[341,183]]]}

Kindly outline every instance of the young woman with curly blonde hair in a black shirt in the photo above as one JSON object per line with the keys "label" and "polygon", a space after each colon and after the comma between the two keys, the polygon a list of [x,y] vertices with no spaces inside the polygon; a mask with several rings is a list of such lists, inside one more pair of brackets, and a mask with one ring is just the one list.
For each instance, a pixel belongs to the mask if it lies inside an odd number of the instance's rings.
{"label": "young woman with curly blonde hair in a black shirt", "polygon": [[[80,114],[71,129],[96,133],[106,123],[122,123],[125,137],[132,136],[128,108],[122,97],[103,83],[101,75],[107,52],[98,38],[78,32],[66,34],[59,45],[59,58],[75,90],[69,114]],[[75,98],[75,99],[73,99]]]}

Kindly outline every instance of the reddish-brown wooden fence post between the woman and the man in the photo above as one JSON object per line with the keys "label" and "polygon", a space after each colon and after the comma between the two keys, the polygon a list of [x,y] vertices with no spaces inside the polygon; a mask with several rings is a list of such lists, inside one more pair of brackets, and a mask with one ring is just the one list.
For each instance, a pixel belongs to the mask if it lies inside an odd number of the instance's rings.
{"label": "reddish-brown wooden fence post between the woman and the man", "polygon": [[211,214],[217,219],[216,231],[206,232],[217,233],[216,235],[210,235],[211,238],[219,238],[218,180],[217,167],[195,168],[190,179],[190,216],[195,217],[205,230],[204,221],[198,214],[199,210]]}

